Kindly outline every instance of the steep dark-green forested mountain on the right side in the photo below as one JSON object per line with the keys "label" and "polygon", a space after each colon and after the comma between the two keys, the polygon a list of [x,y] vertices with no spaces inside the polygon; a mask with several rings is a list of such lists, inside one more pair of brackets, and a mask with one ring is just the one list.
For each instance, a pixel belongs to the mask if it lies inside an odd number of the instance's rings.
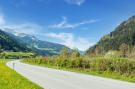
{"label": "steep dark-green forested mountain on the right side", "polygon": [[129,47],[135,46],[135,16],[122,22],[113,32],[101,38],[96,45],[87,50],[87,54],[94,53],[96,49],[102,52],[119,50],[122,44],[127,44]]}

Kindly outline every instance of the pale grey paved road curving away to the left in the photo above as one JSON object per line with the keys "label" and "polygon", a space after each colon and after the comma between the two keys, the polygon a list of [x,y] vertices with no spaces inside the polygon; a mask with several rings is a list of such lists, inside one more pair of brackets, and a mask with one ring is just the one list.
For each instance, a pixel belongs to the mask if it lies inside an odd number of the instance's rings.
{"label": "pale grey paved road curving away to the left", "polygon": [[135,89],[135,83],[33,66],[11,61],[7,66],[45,89]]}

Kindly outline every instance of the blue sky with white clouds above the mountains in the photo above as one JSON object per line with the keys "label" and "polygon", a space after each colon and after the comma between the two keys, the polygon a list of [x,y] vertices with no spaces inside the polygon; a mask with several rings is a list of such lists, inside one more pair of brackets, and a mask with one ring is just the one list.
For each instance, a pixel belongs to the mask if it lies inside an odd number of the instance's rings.
{"label": "blue sky with white clouds above the mountains", "polygon": [[135,15],[135,0],[0,0],[0,27],[86,50]]}

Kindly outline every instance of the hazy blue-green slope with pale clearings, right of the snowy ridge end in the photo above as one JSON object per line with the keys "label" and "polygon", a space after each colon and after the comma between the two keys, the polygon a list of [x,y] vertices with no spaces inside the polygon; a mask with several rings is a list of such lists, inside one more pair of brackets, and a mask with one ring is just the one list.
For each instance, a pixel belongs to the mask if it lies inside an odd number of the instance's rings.
{"label": "hazy blue-green slope with pale clearings, right of the snowy ridge end", "polygon": [[36,53],[40,55],[59,54],[63,48],[67,48],[64,45],[42,41],[30,35],[26,35],[24,37],[18,37],[18,38],[21,39],[21,41],[25,43],[27,47],[31,48],[32,50],[34,50]]}

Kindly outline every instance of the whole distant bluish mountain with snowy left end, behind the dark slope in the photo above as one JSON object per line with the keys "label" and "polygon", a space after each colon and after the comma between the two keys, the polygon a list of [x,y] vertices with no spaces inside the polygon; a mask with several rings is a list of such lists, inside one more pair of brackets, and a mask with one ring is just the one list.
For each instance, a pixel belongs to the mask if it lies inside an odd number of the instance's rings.
{"label": "whole distant bluish mountain with snowy left end, behind the dark slope", "polygon": [[19,43],[25,44],[28,48],[32,49],[33,52],[40,55],[55,55],[59,54],[63,48],[69,49],[61,44],[39,40],[33,35],[17,33],[13,29],[6,28],[4,31],[16,39]]}

